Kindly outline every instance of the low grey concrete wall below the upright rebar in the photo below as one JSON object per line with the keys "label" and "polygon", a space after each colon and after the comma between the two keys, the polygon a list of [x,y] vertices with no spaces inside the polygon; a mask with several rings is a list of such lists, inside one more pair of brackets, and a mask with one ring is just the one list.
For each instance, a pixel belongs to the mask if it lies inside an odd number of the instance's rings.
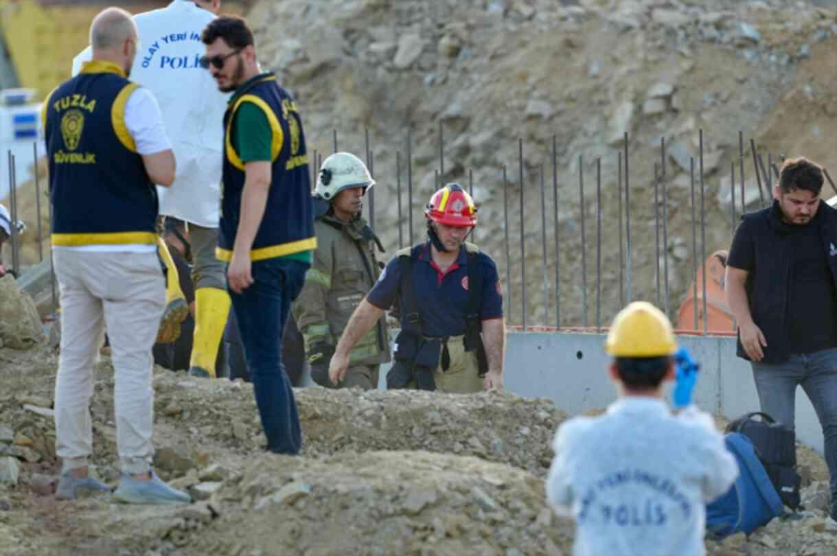
{"label": "low grey concrete wall below the upright rebar", "polygon": [[[701,409],[734,419],[759,409],[750,363],[736,357],[732,337],[680,337],[701,363],[695,401]],[[506,389],[527,398],[552,399],[570,415],[603,409],[616,391],[608,379],[604,335],[574,332],[508,332]],[[388,365],[381,368],[386,388]],[[796,434],[799,441],[823,452],[823,435],[809,399],[797,390]]]}

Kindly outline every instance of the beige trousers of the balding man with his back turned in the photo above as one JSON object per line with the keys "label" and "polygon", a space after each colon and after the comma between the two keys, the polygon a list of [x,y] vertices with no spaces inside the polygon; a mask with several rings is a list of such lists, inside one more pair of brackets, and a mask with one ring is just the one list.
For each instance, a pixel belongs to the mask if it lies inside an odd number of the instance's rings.
{"label": "beige trousers of the balding man with his back turned", "polygon": [[157,254],[56,249],[53,258],[61,295],[55,451],[64,471],[87,465],[93,447],[93,364],[107,327],[116,372],[116,449],[122,472],[146,472],[154,453],[151,347],[166,300]]}

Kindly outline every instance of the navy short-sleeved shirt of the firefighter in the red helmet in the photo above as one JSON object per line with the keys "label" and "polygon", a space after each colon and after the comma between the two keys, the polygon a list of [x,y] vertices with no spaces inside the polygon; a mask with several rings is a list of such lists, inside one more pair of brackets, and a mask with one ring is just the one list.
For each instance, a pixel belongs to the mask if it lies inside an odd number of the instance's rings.
{"label": "navy short-sleeved shirt of the firefighter in the red helmet", "polygon": [[[465,309],[468,306],[468,252],[463,245],[460,255],[447,272],[442,272],[430,256],[430,242],[413,247],[413,289],[422,332],[429,337],[465,334]],[[485,253],[476,254],[482,272],[480,317],[490,321],[503,317],[503,296],[497,276],[497,265]],[[398,255],[389,261],[378,277],[367,301],[384,311],[393,306],[401,286]],[[403,307],[402,307],[403,310]]]}

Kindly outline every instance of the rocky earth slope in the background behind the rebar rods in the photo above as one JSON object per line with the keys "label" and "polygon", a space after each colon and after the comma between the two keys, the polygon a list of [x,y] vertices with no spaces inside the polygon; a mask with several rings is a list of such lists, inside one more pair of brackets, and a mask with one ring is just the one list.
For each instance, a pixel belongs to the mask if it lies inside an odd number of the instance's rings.
{"label": "rocky earth slope in the background behind the rebar rods", "polygon": [[[818,2],[820,6],[824,5]],[[833,3],[832,3],[833,5]],[[545,275],[554,280],[552,138],[556,137],[561,220],[562,322],[583,321],[579,156],[587,219],[588,320],[595,300],[596,158],[602,157],[602,315],[619,309],[617,152],[630,134],[634,298],[655,299],[654,164],[665,136],[669,157],[668,245],[672,317],[691,283],[689,156],[704,130],[706,254],[729,245],[730,163],[738,131],[764,153],[809,152],[829,165],[822,138],[834,131],[834,72],[823,72],[837,45],[834,8],[778,0],[358,0],[339,6],[306,0],[254,5],[259,57],[295,93],[311,152],[339,147],[363,155],[369,130],[374,155],[377,232],[398,246],[396,152],[401,152],[403,224],[407,130],[413,147],[413,239],[424,236],[420,210],[435,187],[439,124],[444,127],[442,181],[467,183],[473,169],[480,225],[475,241],[505,277],[501,167],[511,183],[511,311],[521,321],[525,262],[529,322],[552,324],[554,300],[542,295],[541,164],[546,164]],[[831,56],[833,58],[833,56]],[[833,64],[833,60],[825,67]],[[833,85],[833,84],[832,84]],[[804,101],[802,119],[795,107]],[[829,108],[829,106],[832,106]],[[775,116],[774,116],[775,115]],[[788,133],[788,126],[792,132]],[[803,139],[803,137],[805,139]],[[524,214],[517,140],[524,141]],[[816,147],[816,148],[813,148]],[[752,162],[747,200],[758,205]],[[737,172],[737,170],[736,170]],[[728,183],[728,182],[727,182]],[[830,193],[829,193],[830,195]],[[662,201],[660,214],[662,213]],[[740,200],[737,201],[741,210]],[[526,223],[526,255],[516,248]],[[700,227],[698,227],[700,231]],[[404,232],[406,234],[406,231]],[[407,240],[407,239],[405,239]],[[662,242],[662,239],[660,238]],[[700,242],[698,242],[700,243]],[[700,245],[699,245],[700,247]],[[699,257],[702,262],[702,257]],[[552,284],[554,294],[554,284]],[[544,306],[552,303],[552,319]]]}

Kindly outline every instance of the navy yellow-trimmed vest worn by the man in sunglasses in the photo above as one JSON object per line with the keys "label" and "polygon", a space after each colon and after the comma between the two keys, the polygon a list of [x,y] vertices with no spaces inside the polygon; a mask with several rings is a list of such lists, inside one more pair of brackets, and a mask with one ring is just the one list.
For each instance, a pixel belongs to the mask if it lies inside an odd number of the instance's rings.
{"label": "navy yellow-trimmed vest worn by the man in sunglasses", "polygon": [[311,178],[308,172],[306,140],[296,103],[276,84],[273,74],[254,77],[229,100],[224,123],[221,222],[218,230],[220,260],[233,256],[239,229],[241,194],[244,190],[244,162],[233,146],[236,113],[244,102],[258,106],[273,131],[270,192],[250,251],[250,260],[265,260],[316,249]]}

